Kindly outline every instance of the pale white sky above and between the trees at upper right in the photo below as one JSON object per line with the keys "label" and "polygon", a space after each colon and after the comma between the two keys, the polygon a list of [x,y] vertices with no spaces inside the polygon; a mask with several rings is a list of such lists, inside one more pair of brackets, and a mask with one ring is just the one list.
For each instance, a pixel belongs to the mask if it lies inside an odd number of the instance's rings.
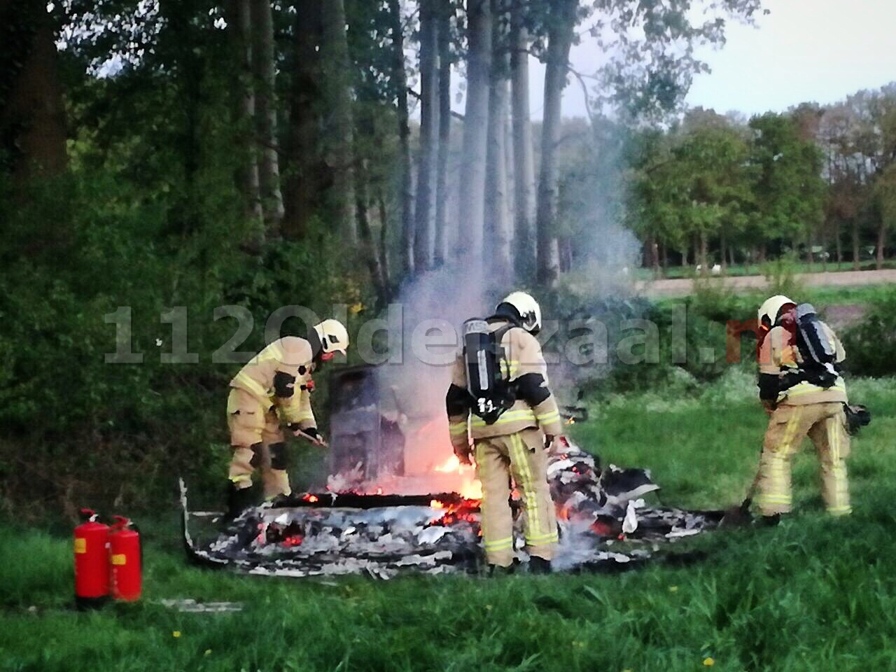
{"label": "pale white sky above and between the trees at upper right", "polygon": [[[694,78],[692,107],[746,115],[783,111],[804,101],[831,103],[896,81],[896,0],[765,0],[757,27],[728,23],[724,47],[698,56],[712,72]],[[593,72],[599,48],[587,35],[570,60]],[[530,63],[531,111],[541,117],[544,66]],[[564,116],[585,116],[578,82],[564,91]]]}

